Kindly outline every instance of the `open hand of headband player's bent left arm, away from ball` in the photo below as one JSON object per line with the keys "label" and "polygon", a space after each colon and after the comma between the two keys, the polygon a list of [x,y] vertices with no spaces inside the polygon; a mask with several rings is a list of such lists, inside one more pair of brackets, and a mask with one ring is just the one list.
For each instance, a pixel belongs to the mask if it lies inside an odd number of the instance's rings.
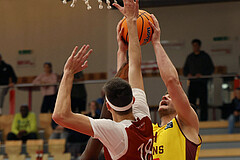
{"label": "open hand of headband player's bent left arm, away from ball", "polygon": [[88,67],[88,56],[92,53],[92,49],[89,50],[89,45],[83,45],[77,52],[78,46],[76,46],[72,52],[72,55],[68,58],[65,66],[64,73],[76,74]]}

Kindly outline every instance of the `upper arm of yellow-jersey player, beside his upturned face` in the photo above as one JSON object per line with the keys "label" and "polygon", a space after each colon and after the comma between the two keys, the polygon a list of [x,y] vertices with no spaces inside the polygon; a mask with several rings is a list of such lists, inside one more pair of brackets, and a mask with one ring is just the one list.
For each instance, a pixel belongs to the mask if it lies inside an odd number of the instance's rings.
{"label": "upper arm of yellow-jersey player, beside his upturned face", "polygon": [[198,130],[199,121],[197,114],[191,107],[180,82],[170,82],[167,88],[179,120],[185,125],[192,126]]}

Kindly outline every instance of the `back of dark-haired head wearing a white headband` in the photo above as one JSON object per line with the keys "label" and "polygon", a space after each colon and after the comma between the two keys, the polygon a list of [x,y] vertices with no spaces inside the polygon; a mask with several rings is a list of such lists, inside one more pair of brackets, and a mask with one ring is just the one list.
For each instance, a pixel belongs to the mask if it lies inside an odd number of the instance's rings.
{"label": "back of dark-haired head wearing a white headband", "polygon": [[106,105],[119,115],[132,112],[134,102],[132,88],[129,83],[121,78],[114,78],[104,85]]}

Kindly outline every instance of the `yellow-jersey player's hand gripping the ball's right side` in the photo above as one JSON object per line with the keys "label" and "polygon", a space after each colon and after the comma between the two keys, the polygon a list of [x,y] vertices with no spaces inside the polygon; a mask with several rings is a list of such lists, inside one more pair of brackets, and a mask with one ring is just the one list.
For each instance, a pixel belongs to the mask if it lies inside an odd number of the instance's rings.
{"label": "yellow-jersey player's hand gripping the ball's right side", "polygon": [[151,21],[149,21],[149,24],[150,24],[150,26],[153,29],[152,44],[160,43],[161,29],[159,27],[159,22],[158,22],[157,18],[153,14],[151,14],[151,17],[153,19],[153,23]]}

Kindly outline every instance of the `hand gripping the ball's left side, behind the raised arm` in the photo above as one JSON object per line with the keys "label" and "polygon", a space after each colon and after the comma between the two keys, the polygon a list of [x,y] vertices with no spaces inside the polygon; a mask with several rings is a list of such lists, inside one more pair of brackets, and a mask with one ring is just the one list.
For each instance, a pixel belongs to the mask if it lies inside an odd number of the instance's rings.
{"label": "hand gripping the ball's left side, behind the raised arm", "polygon": [[117,42],[118,42],[118,49],[124,53],[128,50],[128,45],[124,42],[122,36],[123,36],[123,30],[124,28],[121,27],[122,20],[117,25]]}

